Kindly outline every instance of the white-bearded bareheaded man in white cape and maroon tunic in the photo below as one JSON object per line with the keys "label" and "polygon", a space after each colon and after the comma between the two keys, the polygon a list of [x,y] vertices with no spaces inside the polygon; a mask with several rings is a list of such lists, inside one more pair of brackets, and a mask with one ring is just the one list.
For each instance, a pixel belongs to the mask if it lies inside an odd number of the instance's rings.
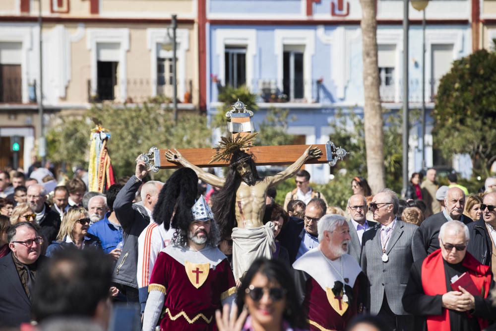
{"label": "white-bearded bareheaded man in white cape and maroon tunic", "polygon": [[361,313],[367,277],[357,261],[346,254],[350,228],[346,218],[325,215],[317,223],[318,247],[294,264],[297,291],[310,330],[345,330]]}

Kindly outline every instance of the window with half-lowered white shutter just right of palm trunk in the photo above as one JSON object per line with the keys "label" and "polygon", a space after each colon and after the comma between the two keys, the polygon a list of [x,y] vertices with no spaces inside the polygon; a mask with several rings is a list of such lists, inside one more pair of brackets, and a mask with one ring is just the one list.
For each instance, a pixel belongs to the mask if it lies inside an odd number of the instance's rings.
{"label": "window with half-lowered white shutter just right of palm trunk", "polygon": [[381,101],[395,101],[395,45],[377,45],[379,66],[379,93]]}

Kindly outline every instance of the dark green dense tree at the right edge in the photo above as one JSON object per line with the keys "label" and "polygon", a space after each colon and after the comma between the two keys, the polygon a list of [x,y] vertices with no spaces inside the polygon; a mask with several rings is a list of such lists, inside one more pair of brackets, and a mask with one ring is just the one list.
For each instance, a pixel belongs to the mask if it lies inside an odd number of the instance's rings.
{"label": "dark green dense tree at the right edge", "polygon": [[496,160],[496,54],[479,50],[453,62],[432,115],[434,147],[443,157],[468,153],[474,173],[488,176]]}

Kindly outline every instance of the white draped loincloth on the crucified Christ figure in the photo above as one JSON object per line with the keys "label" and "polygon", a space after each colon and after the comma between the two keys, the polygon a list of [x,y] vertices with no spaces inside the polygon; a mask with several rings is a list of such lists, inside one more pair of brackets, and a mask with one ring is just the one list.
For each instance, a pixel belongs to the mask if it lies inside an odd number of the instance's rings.
{"label": "white draped loincloth on the crucified Christ figure", "polygon": [[274,223],[267,222],[259,228],[234,228],[233,240],[233,272],[234,279],[240,279],[256,258],[272,259],[276,250]]}

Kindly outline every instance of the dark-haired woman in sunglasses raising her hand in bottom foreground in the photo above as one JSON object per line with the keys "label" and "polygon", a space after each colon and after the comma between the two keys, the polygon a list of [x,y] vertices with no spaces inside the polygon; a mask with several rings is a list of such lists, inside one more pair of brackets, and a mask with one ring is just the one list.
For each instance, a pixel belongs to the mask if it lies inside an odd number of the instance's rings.
{"label": "dark-haired woman in sunglasses raising her hand in bottom foreground", "polygon": [[238,289],[233,313],[241,314],[233,314],[235,316],[229,319],[228,306],[224,306],[222,316],[217,311],[215,318],[219,331],[304,329],[305,316],[298,304],[295,283],[289,274],[288,267],[279,260],[255,260]]}

